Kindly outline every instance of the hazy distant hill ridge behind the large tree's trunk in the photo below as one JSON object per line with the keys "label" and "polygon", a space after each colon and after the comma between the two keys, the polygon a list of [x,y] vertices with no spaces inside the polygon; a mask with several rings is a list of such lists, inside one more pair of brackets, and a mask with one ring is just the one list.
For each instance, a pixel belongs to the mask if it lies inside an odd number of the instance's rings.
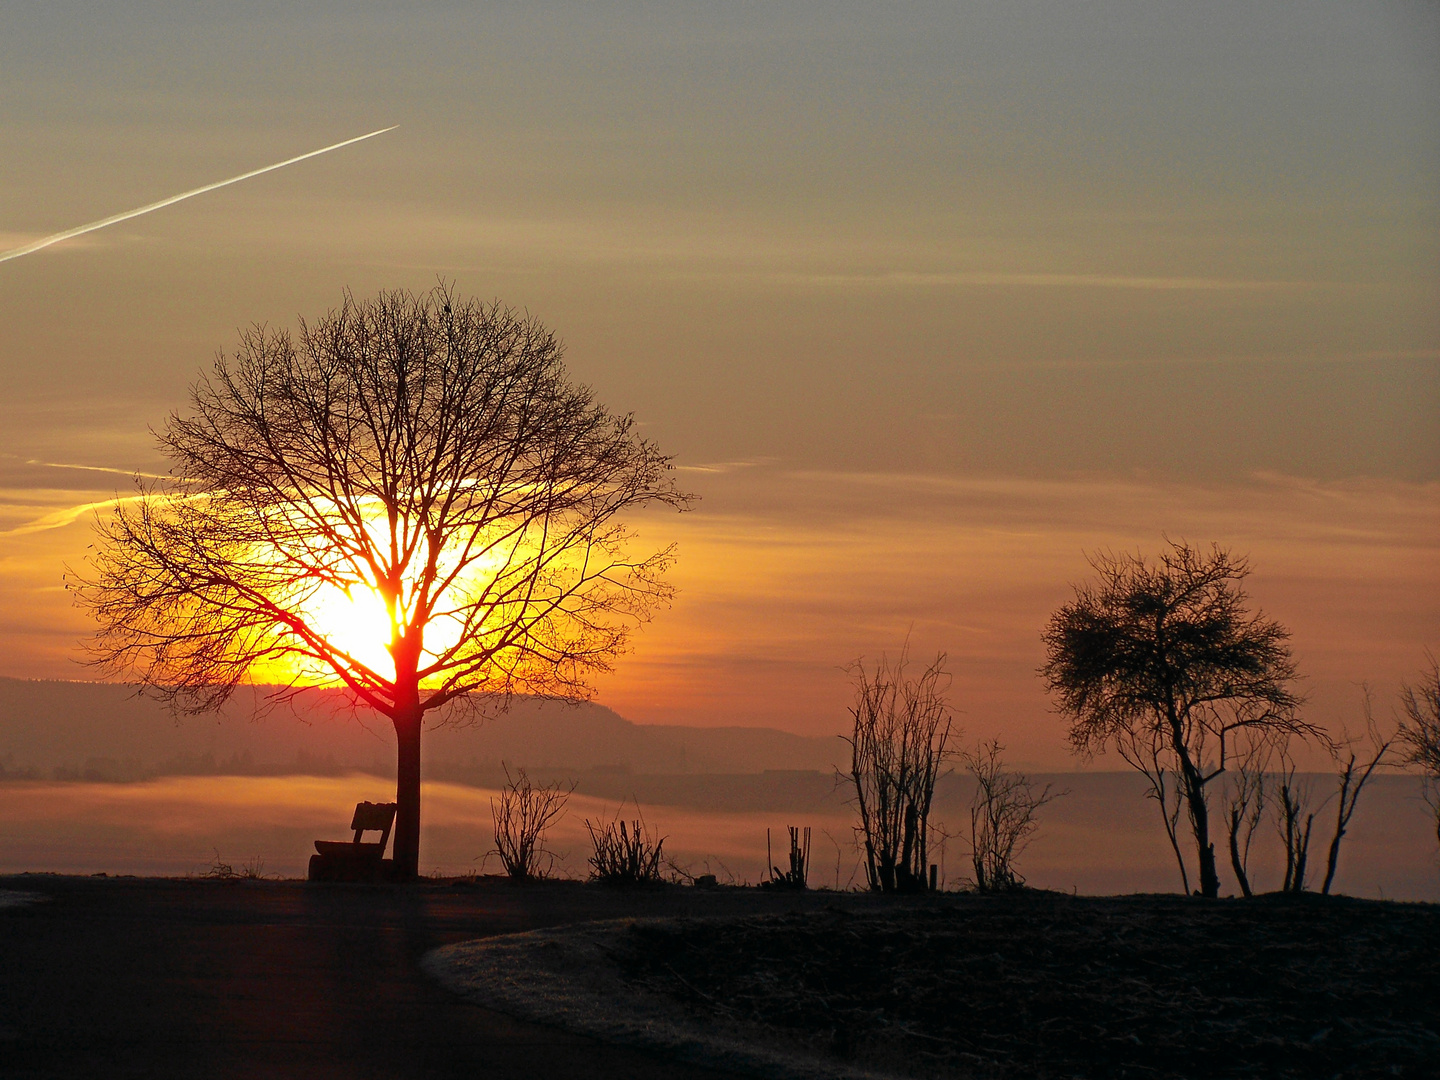
{"label": "hazy distant hill ridge behind the large tree's trunk", "polygon": [[[264,688],[245,690],[222,713],[174,717],[134,687],[0,678],[0,773],[140,779],[166,773],[395,772],[389,721],[353,713],[338,693],[256,711]],[[508,713],[426,733],[435,779],[488,780],[500,762],[553,772],[762,773],[828,772],[840,739],[768,727],[634,724],[598,704],[517,698]]]}

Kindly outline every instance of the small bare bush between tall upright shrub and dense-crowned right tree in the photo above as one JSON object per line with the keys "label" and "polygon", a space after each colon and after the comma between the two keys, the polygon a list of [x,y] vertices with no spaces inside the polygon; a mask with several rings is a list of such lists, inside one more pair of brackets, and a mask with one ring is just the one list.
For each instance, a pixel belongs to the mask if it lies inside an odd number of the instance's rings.
{"label": "small bare bush between tall upright shrub and dense-crowned right tree", "polygon": [[975,778],[971,865],[979,893],[1002,893],[1025,884],[1015,871],[1015,860],[1040,828],[1035,821],[1040,808],[1064,795],[1048,783],[1037,792],[1024,773],[1007,772],[1004,752],[999,740],[991,739],[960,755],[966,772]]}

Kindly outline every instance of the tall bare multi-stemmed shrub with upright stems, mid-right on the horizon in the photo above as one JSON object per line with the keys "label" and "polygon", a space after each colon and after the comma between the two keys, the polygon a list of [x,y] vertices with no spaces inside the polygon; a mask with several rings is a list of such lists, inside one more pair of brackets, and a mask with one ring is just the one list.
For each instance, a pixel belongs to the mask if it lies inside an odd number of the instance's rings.
{"label": "tall bare multi-stemmed shrub with upright stems, mid-right on the horizon", "polygon": [[949,672],[939,654],[919,678],[906,678],[906,652],[867,671],[855,661],[850,779],[855,785],[858,834],[870,887],[919,893],[927,884],[930,802],[950,756]]}

